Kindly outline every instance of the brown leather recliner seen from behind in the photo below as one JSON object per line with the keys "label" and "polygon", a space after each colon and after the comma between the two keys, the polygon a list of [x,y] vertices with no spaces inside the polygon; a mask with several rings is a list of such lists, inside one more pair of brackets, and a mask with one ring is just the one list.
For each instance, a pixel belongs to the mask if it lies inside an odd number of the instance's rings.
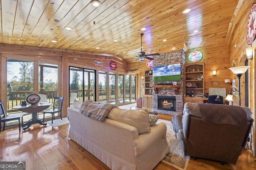
{"label": "brown leather recliner seen from behind", "polygon": [[236,164],[252,127],[252,111],[244,106],[185,103],[183,115],[174,115],[183,153]]}

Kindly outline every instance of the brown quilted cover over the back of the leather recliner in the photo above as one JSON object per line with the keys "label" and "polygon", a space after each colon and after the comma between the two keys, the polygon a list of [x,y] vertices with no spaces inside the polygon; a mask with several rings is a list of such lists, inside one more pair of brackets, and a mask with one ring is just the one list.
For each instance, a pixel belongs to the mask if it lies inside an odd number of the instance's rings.
{"label": "brown quilted cover over the back of the leather recliner", "polygon": [[206,123],[230,123],[246,125],[246,111],[240,106],[222,104],[198,104],[201,118]]}

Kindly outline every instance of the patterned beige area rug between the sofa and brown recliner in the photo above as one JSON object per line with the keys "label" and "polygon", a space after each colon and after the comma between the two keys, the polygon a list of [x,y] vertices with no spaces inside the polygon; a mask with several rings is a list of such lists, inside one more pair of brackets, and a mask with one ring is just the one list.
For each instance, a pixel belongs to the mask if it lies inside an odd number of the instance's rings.
{"label": "patterned beige area rug between the sofa and brown recliner", "polygon": [[158,121],[164,122],[167,126],[166,139],[170,147],[170,152],[166,155],[162,162],[174,168],[177,168],[178,170],[186,170],[188,168],[188,162],[190,157],[184,156],[182,152],[182,147],[180,145],[180,139],[178,135],[177,139],[175,137],[175,133],[172,128],[172,122],[162,119],[159,119]]}

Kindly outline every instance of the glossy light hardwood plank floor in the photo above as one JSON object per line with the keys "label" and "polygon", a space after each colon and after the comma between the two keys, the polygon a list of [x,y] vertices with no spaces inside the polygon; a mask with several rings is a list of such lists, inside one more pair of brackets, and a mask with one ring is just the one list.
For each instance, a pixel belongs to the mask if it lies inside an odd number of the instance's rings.
{"label": "glossy light hardwood plank floor", "polygon": [[[171,116],[160,115],[171,120]],[[102,162],[68,139],[69,124],[52,127],[33,124],[26,131],[18,127],[0,132],[0,161],[26,161],[26,170],[108,170]],[[188,170],[254,170],[256,159],[244,150],[236,165],[190,159]],[[154,170],[176,170],[160,162]]]}

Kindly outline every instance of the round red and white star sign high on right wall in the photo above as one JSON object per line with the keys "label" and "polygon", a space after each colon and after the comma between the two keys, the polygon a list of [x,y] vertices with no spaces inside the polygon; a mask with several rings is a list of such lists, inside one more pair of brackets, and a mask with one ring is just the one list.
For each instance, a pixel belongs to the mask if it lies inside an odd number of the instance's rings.
{"label": "round red and white star sign high on right wall", "polygon": [[249,13],[247,28],[246,28],[246,39],[247,39],[248,45],[251,45],[255,39],[255,35],[256,35],[255,18],[256,18],[256,4],[253,4]]}

